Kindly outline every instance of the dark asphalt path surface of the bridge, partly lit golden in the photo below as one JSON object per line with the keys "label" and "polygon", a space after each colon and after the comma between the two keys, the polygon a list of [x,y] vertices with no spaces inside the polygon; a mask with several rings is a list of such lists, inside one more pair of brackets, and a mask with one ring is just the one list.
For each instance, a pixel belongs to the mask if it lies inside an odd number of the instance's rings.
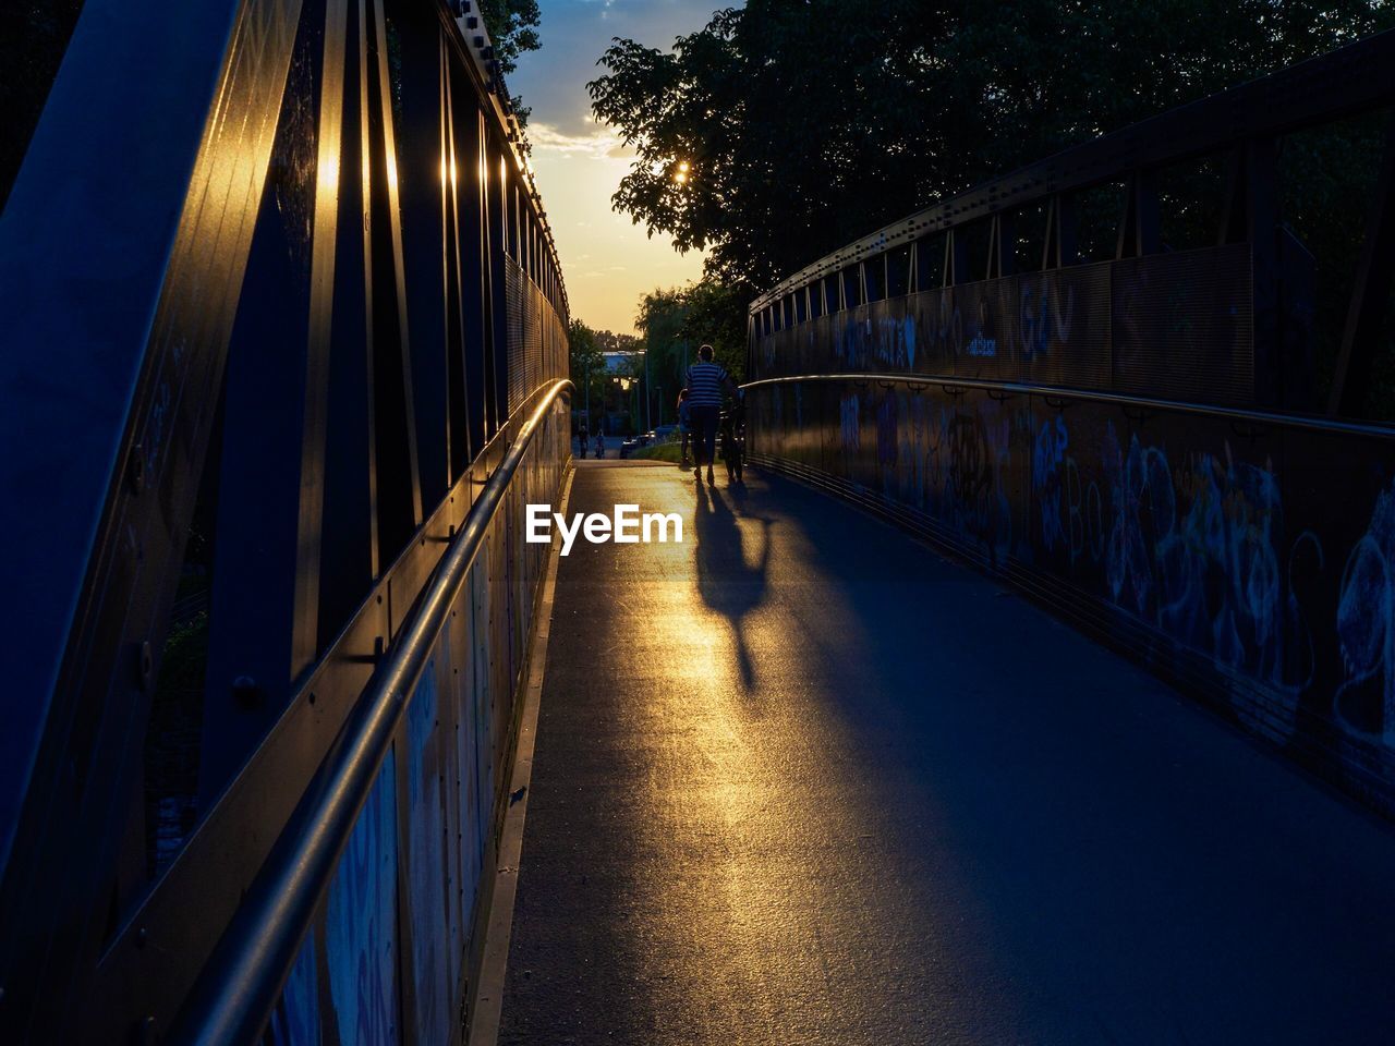
{"label": "dark asphalt path surface of the bridge, partly lit golden", "polygon": [[1395,830],[794,483],[578,467],[505,1043],[1389,1043]]}

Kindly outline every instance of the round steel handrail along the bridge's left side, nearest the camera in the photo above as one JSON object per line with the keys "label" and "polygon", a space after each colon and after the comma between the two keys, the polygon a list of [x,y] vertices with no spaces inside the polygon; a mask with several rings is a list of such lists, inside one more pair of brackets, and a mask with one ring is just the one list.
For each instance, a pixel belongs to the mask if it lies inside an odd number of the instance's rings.
{"label": "round steel handrail along the bridge's left side, nearest the camera", "polygon": [[557,397],[559,378],[522,424],[470,508],[398,643],[325,756],[294,814],[199,972],[170,1040],[246,1046],[261,1036],[300,953],[319,900],[349,844],[392,736],[465,584],[504,494]]}

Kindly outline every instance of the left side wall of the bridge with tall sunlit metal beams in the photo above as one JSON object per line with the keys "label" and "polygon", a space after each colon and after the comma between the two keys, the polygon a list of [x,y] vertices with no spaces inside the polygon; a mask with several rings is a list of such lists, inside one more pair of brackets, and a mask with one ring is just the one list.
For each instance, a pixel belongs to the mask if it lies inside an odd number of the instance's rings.
{"label": "left side wall of the bridge with tall sunlit metal beams", "polygon": [[[86,4],[0,219],[6,1042],[162,1039],[565,375],[476,21]],[[545,551],[522,505],[555,497],[565,417],[490,523],[275,1040],[459,1038]]]}

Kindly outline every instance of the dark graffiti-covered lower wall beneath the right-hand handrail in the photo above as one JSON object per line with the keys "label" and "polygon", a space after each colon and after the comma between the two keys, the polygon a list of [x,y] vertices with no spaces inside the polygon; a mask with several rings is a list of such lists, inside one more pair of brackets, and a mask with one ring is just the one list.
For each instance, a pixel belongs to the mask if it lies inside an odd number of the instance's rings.
{"label": "dark graffiti-covered lower wall beneath the right-hand handrail", "polygon": [[1395,431],[872,378],[757,460],[896,512],[1395,814]]}

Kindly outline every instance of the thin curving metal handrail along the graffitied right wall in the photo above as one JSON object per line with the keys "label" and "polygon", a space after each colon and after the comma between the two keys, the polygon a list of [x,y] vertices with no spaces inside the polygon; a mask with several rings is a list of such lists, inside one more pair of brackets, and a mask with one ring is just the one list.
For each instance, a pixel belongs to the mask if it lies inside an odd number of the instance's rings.
{"label": "thin curving metal handrail along the graffitied right wall", "polygon": [[753,389],[757,385],[781,385],[798,381],[886,381],[905,385],[950,385],[963,389],[982,389],[989,392],[1009,392],[1021,396],[1056,396],[1057,399],[1084,399],[1096,403],[1112,403],[1124,407],[1140,407],[1147,410],[1172,410],[1184,414],[1204,414],[1207,417],[1223,417],[1233,421],[1253,421],[1264,425],[1285,425],[1289,428],[1304,428],[1317,432],[1346,432],[1349,435],[1373,437],[1377,439],[1395,438],[1395,427],[1368,424],[1362,421],[1338,421],[1320,414],[1279,414],[1271,410],[1251,410],[1249,407],[1209,406],[1207,403],[1190,403],[1186,400],[1155,399],[1152,396],[1130,396],[1122,392],[1099,392],[1095,389],[1071,389],[1057,385],[1031,385],[1017,381],[985,381],[982,378],[960,378],[953,374],[877,374],[869,371],[844,371],[841,374],[792,374],[783,378],[757,378],[748,381],[742,389]]}

